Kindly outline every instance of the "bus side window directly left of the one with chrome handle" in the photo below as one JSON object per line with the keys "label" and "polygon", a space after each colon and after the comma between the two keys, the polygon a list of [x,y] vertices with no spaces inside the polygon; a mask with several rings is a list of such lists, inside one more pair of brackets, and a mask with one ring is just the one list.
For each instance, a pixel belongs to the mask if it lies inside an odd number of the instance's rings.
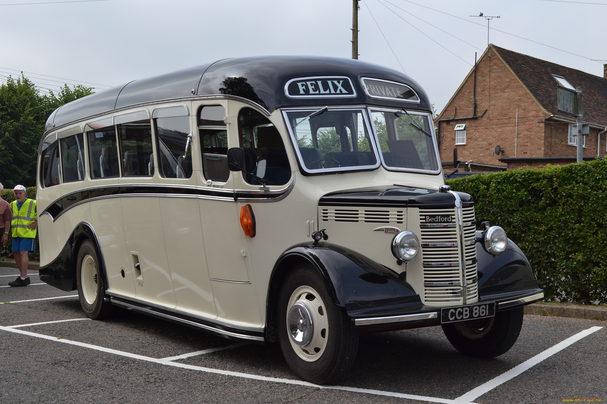
{"label": "bus side window directly left of the one with chrome handle", "polygon": [[125,177],[154,175],[152,126],[149,119],[117,125],[120,160]]}

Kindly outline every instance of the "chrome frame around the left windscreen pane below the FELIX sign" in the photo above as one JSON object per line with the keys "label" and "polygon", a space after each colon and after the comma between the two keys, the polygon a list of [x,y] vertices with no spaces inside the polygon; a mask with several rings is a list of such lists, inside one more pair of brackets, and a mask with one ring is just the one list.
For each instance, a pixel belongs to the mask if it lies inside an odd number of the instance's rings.
{"label": "chrome frame around the left windscreen pane below the FELIX sign", "polygon": [[[320,107],[320,108],[322,108],[322,107]],[[318,168],[315,170],[310,170],[305,166],[304,159],[302,158],[302,156],[299,152],[299,147],[297,146],[297,138],[295,137],[295,134],[293,133],[293,128],[291,127],[287,113],[288,112],[300,112],[300,111],[308,111],[308,112],[312,113],[314,111],[319,110],[320,108],[318,106],[316,106],[316,107],[299,107],[299,108],[281,108],[280,109],[280,112],[282,113],[282,118],[285,121],[285,126],[287,127],[287,130],[289,131],[289,135],[291,137],[291,145],[293,146],[293,150],[295,152],[295,155],[297,157],[297,161],[299,162],[300,167],[307,174],[337,174],[337,173],[351,173],[351,172],[355,172],[355,171],[377,170],[377,168],[379,168],[379,166],[381,165],[381,161],[379,159],[380,156],[379,156],[379,153],[377,150],[377,141],[374,138],[375,132],[373,131],[373,127],[371,125],[371,122],[369,121],[368,108],[365,105],[334,106],[334,107],[329,106],[328,111],[360,111],[362,113],[362,119],[364,121],[364,124],[367,125],[367,132],[371,138],[371,143],[375,147],[375,150],[373,150],[373,151],[375,152],[376,163],[374,165],[355,165],[355,166],[351,166],[351,167],[337,167],[337,169],[336,168]]]}

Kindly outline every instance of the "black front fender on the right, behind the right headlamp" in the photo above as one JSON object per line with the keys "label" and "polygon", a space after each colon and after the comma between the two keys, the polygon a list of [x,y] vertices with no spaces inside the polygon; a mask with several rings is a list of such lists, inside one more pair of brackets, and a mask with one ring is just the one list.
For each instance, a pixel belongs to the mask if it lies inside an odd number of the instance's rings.
{"label": "black front fender on the right, behind the right headlamp", "polygon": [[514,241],[508,239],[506,251],[498,256],[492,256],[482,247],[481,234],[481,231],[476,232],[478,293],[481,296],[538,288],[529,260]]}

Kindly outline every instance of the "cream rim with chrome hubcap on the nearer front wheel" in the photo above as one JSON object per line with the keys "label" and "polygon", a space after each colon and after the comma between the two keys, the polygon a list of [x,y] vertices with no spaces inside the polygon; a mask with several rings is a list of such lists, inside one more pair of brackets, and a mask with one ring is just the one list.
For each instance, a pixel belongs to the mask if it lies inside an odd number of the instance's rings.
{"label": "cream rim with chrome hubcap on the nearer front wheel", "polygon": [[320,294],[310,286],[299,286],[291,294],[287,306],[287,334],[293,351],[306,362],[315,362],[325,351],[329,334],[327,307]]}

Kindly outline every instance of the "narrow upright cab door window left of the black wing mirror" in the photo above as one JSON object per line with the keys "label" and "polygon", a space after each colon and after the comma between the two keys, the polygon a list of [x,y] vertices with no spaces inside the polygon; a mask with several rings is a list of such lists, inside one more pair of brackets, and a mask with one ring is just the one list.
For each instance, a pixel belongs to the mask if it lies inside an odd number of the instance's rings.
{"label": "narrow upright cab door window left of the black wing mirror", "polygon": [[226,182],[229,177],[225,116],[225,109],[218,105],[202,107],[198,112],[202,167],[205,178],[217,182]]}

